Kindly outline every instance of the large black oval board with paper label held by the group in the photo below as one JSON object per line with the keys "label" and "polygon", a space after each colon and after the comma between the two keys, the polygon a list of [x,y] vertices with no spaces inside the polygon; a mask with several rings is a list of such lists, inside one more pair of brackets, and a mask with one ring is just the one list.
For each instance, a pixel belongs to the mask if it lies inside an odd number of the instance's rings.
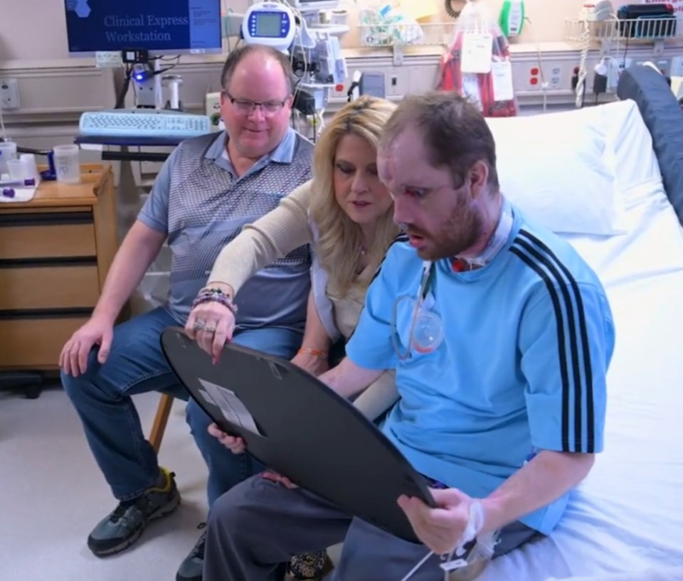
{"label": "large black oval board with paper label held by the group", "polygon": [[435,506],[428,481],[348,400],[282,358],[228,343],[213,365],[183,329],[162,350],[198,405],[248,452],[303,488],[374,526],[419,542],[396,503]]}

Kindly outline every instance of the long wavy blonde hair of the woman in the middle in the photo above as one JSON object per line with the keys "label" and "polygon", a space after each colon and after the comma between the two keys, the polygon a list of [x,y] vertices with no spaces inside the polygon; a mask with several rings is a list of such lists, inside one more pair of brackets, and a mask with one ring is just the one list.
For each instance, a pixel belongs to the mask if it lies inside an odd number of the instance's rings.
{"label": "long wavy blonde hair of the woman in the middle", "polygon": [[[356,270],[362,237],[361,227],[342,210],[334,196],[337,145],[345,135],[354,134],[377,149],[384,125],[395,109],[396,105],[389,101],[364,95],[334,115],[315,146],[311,215],[319,231],[316,251],[329,274],[329,288],[340,297],[344,297],[354,284],[359,284]],[[398,234],[392,215],[393,205],[378,218],[375,238],[371,247],[365,249],[372,270],[379,266]]]}

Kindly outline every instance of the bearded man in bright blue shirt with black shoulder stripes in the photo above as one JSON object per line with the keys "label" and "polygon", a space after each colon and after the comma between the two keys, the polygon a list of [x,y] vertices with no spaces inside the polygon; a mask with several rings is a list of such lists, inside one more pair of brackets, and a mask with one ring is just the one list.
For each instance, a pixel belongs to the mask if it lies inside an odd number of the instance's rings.
{"label": "bearded man in bright blue shirt with black shoulder stripes", "polygon": [[275,579],[292,555],[342,541],[335,581],[400,581],[418,563],[411,579],[434,581],[441,555],[477,538],[457,578],[470,577],[551,533],[603,447],[608,300],[568,243],[502,196],[481,114],[452,94],[406,98],[378,169],[405,235],[376,273],[347,358],[321,379],[351,397],[396,369],[401,399],[382,429],[434,485],[439,508],[396,499],[424,545],[286,478],[255,477],[213,506],[205,581]]}

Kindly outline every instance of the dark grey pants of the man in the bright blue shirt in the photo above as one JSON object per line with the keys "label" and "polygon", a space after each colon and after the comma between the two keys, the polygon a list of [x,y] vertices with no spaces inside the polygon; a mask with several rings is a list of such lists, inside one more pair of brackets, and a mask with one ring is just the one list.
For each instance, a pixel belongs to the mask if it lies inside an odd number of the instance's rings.
{"label": "dark grey pants of the man in the bright blue shirt", "polygon": [[[494,557],[536,535],[521,523],[503,529]],[[223,494],[211,508],[203,581],[281,581],[294,555],[344,541],[331,581],[401,581],[428,553],[303,489],[290,490],[254,476]],[[411,581],[440,581],[433,555]]]}

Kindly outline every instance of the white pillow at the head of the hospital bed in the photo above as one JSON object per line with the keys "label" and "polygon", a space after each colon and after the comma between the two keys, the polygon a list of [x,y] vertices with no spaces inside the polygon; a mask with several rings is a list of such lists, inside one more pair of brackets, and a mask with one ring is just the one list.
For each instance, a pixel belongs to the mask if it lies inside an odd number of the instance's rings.
{"label": "white pillow at the head of the hospital bed", "polygon": [[504,195],[556,233],[625,232],[608,147],[609,119],[599,107],[488,118]]}

